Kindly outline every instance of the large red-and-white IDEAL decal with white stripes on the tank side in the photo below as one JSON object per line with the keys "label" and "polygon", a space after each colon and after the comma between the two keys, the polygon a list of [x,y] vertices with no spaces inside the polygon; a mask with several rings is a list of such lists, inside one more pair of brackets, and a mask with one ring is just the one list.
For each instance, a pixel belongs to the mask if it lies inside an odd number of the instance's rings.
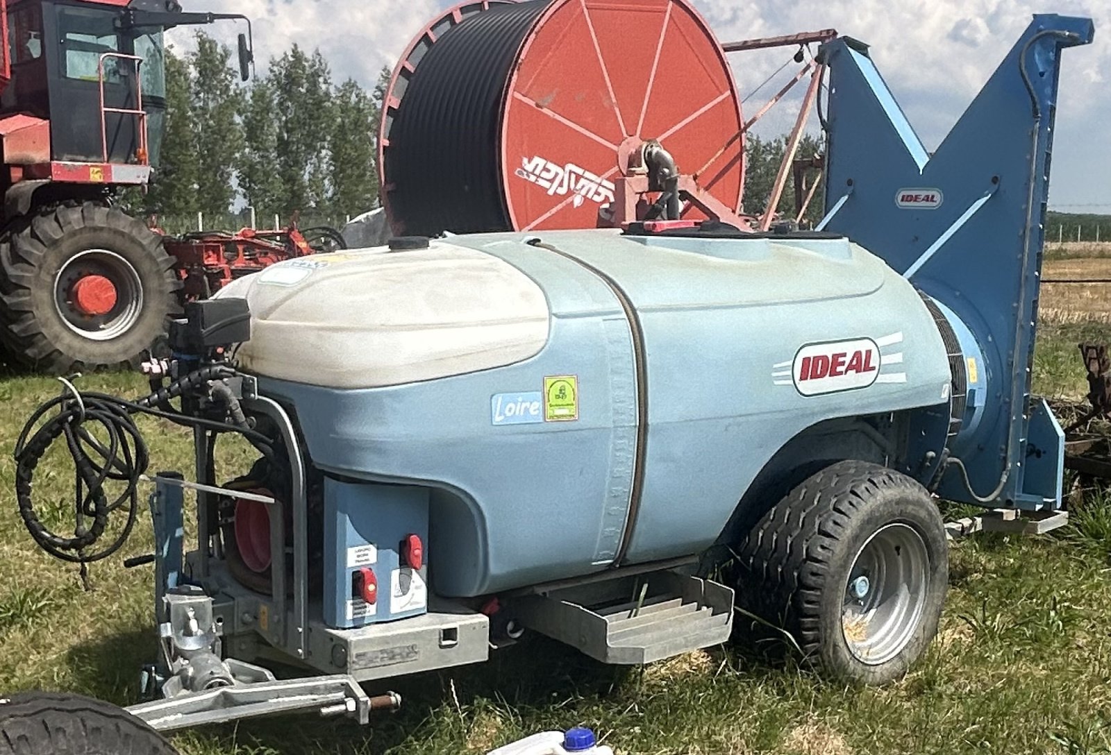
{"label": "large red-and-white IDEAL decal with white stripes on the tank side", "polygon": [[853,339],[802,346],[790,362],[772,371],[775,385],[793,385],[804,396],[841,393],[871,387],[875,383],[905,383],[907,373],[884,368],[902,365],[902,352],[883,354],[882,349],[902,343],[903,334],[883,339]]}

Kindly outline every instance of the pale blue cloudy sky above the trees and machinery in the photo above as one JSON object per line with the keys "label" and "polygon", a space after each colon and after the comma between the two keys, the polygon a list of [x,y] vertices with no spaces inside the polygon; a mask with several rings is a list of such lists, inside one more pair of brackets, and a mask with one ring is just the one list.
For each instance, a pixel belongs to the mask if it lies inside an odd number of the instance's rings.
{"label": "pale blue cloudy sky above the trees and machinery", "polygon": [[[1111,0],[692,0],[720,40],[834,28],[872,59],[928,149],[935,148],[1035,12],[1095,20],[1093,44],[1065,50],[1050,208],[1111,214]],[[449,0],[184,0],[186,10],[239,12],[254,23],[260,71],[293,42],[319,48],[337,80],[372,87]],[[178,46],[183,42],[177,32]],[[221,37],[233,37],[224,27]],[[173,38],[171,38],[173,39]],[[751,91],[783,62],[732,56]],[[754,100],[759,100],[754,98]],[[754,109],[749,103],[749,110]],[[758,105],[757,105],[758,107]],[[774,112],[774,111],[773,111]],[[785,110],[783,111],[785,113]],[[788,115],[784,115],[788,117]],[[785,131],[771,119],[767,131]]]}

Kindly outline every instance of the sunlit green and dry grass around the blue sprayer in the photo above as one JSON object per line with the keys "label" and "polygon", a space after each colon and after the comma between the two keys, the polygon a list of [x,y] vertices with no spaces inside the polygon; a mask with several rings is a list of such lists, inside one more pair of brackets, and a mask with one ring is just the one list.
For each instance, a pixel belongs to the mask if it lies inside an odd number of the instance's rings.
{"label": "sunlit green and dry grass around the blue sprayer", "polygon": [[[1111,272],[1111,250],[1051,250],[1047,278]],[[1085,265],[1093,265],[1089,269]],[[1077,266],[1081,265],[1081,266]],[[1037,387],[1085,392],[1077,343],[1111,341],[1111,286],[1048,285]],[[139,394],[123,375],[84,387]],[[149,526],[124,553],[77,570],[39,553],[12,500],[8,455],[22,417],[58,384],[0,381],[0,689],[56,688],[127,704],[152,655]],[[184,431],[142,421],[156,469],[188,469]],[[229,450],[230,456],[236,452]],[[46,462],[40,501],[64,512],[71,479]],[[954,515],[957,512],[952,512]],[[963,514],[962,514],[963,515]],[[1111,753],[1111,494],[1083,491],[1072,524],[1042,537],[980,535],[952,550],[939,640],[882,689],[827,683],[790,658],[721,647],[643,668],[595,664],[530,638],[490,664],[396,680],[403,709],[360,728],[313,718],[246,723],[177,739],[187,755],[428,753],[487,749],[546,728],[595,727],[621,755]]]}

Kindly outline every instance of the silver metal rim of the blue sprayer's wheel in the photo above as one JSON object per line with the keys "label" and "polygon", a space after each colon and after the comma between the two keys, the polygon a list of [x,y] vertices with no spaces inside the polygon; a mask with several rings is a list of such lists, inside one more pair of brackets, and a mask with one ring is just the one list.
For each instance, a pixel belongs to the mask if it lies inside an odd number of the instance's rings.
{"label": "silver metal rim of the blue sprayer's wheel", "polygon": [[914,635],[930,587],[925,542],[907,524],[889,524],[857,554],[844,586],[841,631],[852,655],[879,666]]}

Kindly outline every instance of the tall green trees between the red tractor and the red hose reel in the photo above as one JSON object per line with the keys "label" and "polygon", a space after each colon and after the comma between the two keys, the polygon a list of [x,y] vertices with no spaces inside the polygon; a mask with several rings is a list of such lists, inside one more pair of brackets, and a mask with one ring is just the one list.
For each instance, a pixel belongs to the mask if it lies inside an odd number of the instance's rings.
{"label": "tall green trees between the red tractor and the red hose reel", "polygon": [[159,170],[138,203],[170,218],[223,218],[246,202],[259,218],[343,218],[378,203],[383,69],[367,91],[336,83],[319,50],[298,46],[243,84],[231,50],[203,32],[167,51]]}

